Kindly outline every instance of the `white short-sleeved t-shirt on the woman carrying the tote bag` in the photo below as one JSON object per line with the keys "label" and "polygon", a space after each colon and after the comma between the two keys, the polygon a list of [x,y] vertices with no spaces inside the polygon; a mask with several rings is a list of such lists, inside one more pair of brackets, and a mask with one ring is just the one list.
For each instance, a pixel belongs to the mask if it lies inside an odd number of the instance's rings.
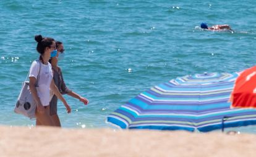
{"label": "white short-sleeved t-shirt on the woman carrying the tote bag", "polygon": [[38,87],[36,87],[37,95],[40,98],[43,106],[48,106],[50,101],[50,85],[53,79],[53,71],[51,70],[51,64],[48,62],[47,65],[40,61],[33,61],[30,67],[29,77],[37,77],[40,67],[40,74],[38,77]]}

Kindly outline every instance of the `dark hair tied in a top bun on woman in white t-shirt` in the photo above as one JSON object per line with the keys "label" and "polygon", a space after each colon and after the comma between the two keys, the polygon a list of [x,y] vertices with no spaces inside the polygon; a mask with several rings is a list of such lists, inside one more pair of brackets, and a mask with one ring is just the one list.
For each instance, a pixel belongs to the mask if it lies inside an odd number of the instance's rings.
{"label": "dark hair tied in a top bun on woman in white t-shirt", "polygon": [[35,36],[35,41],[37,41],[36,50],[40,54],[45,53],[45,48],[49,47],[51,48],[51,45],[53,44],[54,39],[53,38],[43,38],[41,35]]}

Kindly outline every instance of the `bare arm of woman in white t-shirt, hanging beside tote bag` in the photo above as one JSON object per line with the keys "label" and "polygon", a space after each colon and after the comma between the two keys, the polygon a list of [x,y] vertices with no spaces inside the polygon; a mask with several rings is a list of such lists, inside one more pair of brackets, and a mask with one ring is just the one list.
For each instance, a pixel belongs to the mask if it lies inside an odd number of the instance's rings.
{"label": "bare arm of woman in white t-shirt, hanging beside tote bag", "polygon": [[45,112],[45,108],[43,108],[43,105],[41,104],[40,98],[37,95],[35,84],[36,84],[36,78],[35,77],[29,77],[29,89],[32,93],[32,96],[33,96],[34,100],[36,101],[36,109],[39,113],[43,114]]}

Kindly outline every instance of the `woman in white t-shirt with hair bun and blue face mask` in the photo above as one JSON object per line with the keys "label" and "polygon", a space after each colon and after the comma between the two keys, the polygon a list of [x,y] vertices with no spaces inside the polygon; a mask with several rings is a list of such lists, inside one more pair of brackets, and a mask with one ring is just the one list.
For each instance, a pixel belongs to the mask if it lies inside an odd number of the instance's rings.
{"label": "woman in white t-shirt with hair bun and blue face mask", "polygon": [[[68,113],[71,112],[71,109],[54,84],[51,64],[48,62],[51,54],[55,53],[56,55],[54,39],[43,38],[41,35],[36,35],[35,40],[38,43],[36,50],[40,53],[40,59],[39,61],[33,61],[30,67],[29,87],[36,101],[36,125],[54,126],[54,122],[49,115],[50,89],[53,91],[54,95],[58,96],[59,100],[62,101]],[[36,78],[38,78],[37,85]]]}

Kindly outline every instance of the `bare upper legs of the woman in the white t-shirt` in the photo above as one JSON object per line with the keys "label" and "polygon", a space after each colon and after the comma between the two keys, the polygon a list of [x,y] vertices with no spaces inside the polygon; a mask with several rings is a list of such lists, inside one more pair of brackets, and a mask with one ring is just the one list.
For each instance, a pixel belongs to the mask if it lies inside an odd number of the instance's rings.
{"label": "bare upper legs of the woman in the white t-shirt", "polygon": [[38,113],[36,110],[35,116],[36,116],[36,125],[39,124],[39,125],[46,125],[46,126],[54,126],[54,122],[49,116],[49,106],[46,106],[45,112],[43,114]]}

